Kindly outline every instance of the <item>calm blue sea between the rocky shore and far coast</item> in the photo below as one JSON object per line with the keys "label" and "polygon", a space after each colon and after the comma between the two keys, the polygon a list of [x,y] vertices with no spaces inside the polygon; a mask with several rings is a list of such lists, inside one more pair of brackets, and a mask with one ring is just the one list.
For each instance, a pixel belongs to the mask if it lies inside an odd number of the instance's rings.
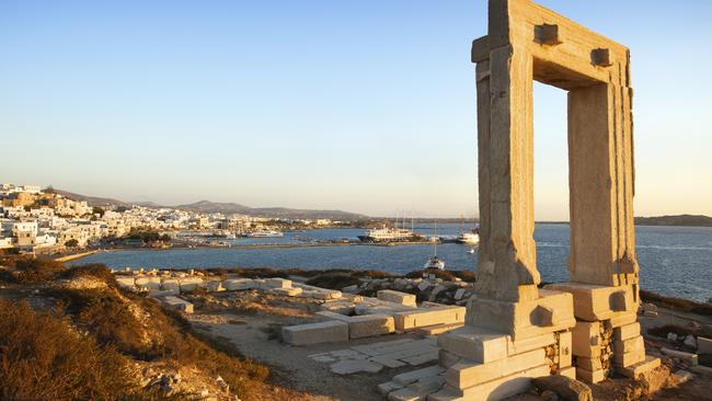
{"label": "calm blue sea between the rocky shore and far coast", "polygon": [[[466,227],[467,229],[467,227]],[[441,236],[457,234],[460,225],[438,225]],[[246,249],[243,244],[294,243],[314,239],[356,239],[360,229],[321,229],[286,232],[284,238],[239,239],[232,248],[174,249],[165,251],[130,250],[94,254],[73,262],[105,263],[110,267],[301,267],[353,268],[406,273],[422,268],[434,253],[433,245],[401,247],[312,247],[288,249]],[[415,231],[433,233],[429,225]],[[537,261],[546,282],[567,278],[569,225],[537,225]],[[707,301],[712,297],[712,228],[638,227],[638,260],[641,287],[661,295]],[[438,256],[451,270],[474,268],[476,253],[467,247],[440,244]],[[475,248],[476,249],[476,248]]]}

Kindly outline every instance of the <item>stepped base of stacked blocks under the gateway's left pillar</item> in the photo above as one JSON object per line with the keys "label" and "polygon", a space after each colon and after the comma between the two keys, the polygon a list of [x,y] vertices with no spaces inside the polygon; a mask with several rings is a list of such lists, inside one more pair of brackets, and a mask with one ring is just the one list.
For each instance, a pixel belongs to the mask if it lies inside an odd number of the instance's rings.
{"label": "stepped base of stacked blocks under the gateway's left pillar", "polygon": [[535,377],[576,378],[570,294],[542,290],[519,302],[473,297],[466,319],[438,336],[445,386],[428,400],[501,400],[528,391]]}

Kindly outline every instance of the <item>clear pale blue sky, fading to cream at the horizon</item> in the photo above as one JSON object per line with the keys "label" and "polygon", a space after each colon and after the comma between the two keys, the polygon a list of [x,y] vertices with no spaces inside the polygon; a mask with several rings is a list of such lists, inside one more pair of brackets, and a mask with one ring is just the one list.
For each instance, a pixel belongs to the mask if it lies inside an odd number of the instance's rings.
{"label": "clear pale blue sky, fading to cream at the horizon", "polygon": [[[542,0],[629,46],[635,213],[712,215],[712,2]],[[485,0],[0,1],[0,182],[163,204],[476,213]],[[567,219],[537,85],[538,219]]]}

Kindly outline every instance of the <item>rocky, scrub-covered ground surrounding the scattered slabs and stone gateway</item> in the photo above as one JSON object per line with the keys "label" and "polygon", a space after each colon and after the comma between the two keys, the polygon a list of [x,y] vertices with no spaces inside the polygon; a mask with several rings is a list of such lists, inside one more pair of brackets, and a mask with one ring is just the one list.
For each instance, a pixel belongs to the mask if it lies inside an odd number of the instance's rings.
{"label": "rocky, scrub-covered ground surrounding the scattered slabs and stone gateway", "polygon": [[[177,316],[145,294],[120,289],[102,270],[67,274],[61,266],[47,274],[37,272],[0,268],[0,301],[26,300],[33,310],[64,317],[76,335],[96,337],[100,345],[112,344],[128,363],[130,382],[126,386],[142,391],[136,398],[139,400],[165,396],[203,400],[380,400],[379,383],[433,364],[430,360],[413,366],[401,360],[402,365],[378,365],[367,371],[359,362],[370,355],[365,355],[365,350],[375,347],[428,347],[423,332],[309,346],[282,341],[283,326],[312,322],[326,300],[255,288],[210,293],[196,286],[179,294],[193,305],[194,312]],[[462,305],[472,294],[471,274],[462,272],[415,272],[402,277],[344,271],[197,273],[222,279],[236,275],[282,276],[363,296],[395,289],[416,295],[418,302]],[[647,353],[659,356],[665,368],[651,382],[615,377],[594,385],[595,399],[712,400],[712,369],[705,367],[712,366],[712,358],[699,355],[694,366],[685,356],[663,353],[663,348],[698,352],[697,339],[712,333],[712,313],[704,306],[655,300],[656,305],[642,310],[640,322]],[[0,329],[13,329],[3,323]],[[359,365],[356,370],[363,371],[349,371],[353,365]],[[658,387],[659,391],[648,393]],[[532,392],[518,399],[554,398]]]}

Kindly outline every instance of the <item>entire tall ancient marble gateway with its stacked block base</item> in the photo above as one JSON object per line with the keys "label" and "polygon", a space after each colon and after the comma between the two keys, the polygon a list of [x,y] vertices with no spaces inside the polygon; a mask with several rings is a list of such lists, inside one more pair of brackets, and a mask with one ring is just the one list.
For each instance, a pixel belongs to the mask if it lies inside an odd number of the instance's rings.
{"label": "entire tall ancient marble gateway with its stacked block base", "polygon": [[[428,399],[501,399],[549,374],[638,376],[630,53],[528,0],[490,0],[476,64],[478,284],[463,329],[438,339],[446,386]],[[570,282],[539,289],[533,80],[567,91]]]}

